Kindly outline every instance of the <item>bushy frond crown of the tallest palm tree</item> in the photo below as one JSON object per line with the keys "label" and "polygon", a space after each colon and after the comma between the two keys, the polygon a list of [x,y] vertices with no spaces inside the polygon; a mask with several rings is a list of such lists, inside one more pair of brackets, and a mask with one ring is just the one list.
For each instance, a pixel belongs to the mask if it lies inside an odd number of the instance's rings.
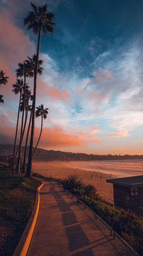
{"label": "bushy frond crown of the tallest palm tree", "polygon": [[53,28],[56,26],[53,23],[54,13],[48,12],[48,4],[36,7],[30,3],[33,11],[28,12],[27,17],[24,19],[24,26],[28,25],[27,29],[33,29],[33,33],[37,34],[42,29],[43,34],[53,34]]}

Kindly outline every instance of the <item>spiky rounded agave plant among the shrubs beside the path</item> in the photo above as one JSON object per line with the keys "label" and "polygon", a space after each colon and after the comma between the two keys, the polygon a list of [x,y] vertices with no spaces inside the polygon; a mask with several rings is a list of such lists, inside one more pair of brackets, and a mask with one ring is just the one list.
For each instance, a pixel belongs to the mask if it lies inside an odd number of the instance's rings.
{"label": "spiky rounded agave plant among the shrubs beside the path", "polygon": [[82,178],[78,174],[70,174],[68,177],[65,179],[65,184],[64,186],[71,190],[74,188],[82,188],[84,186]]}

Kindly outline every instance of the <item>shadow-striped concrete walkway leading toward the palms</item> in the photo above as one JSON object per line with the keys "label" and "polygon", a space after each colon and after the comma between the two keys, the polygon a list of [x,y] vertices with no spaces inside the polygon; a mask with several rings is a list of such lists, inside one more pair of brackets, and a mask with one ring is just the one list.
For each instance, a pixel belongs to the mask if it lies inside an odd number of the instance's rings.
{"label": "shadow-striped concrete walkway leading toward the palms", "polygon": [[61,191],[57,183],[43,183],[28,256],[132,255],[118,239],[109,236],[109,230],[90,211]]}

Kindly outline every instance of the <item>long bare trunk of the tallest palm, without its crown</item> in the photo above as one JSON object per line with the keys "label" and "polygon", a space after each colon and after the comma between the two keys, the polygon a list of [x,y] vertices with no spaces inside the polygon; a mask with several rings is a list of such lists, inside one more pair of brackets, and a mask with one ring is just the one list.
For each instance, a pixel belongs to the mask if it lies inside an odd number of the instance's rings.
{"label": "long bare trunk of the tallest palm, without its crown", "polygon": [[30,145],[29,145],[28,166],[27,166],[26,175],[25,175],[26,177],[32,177],[32,154],[33,154],[33,139],[34,139],[34,126],[35,126],[36,82],[37,82],[37,68],[38,68],[38,59],[39,59],[40,39],[41,39],[41,26],[39,28],[37,55],[36,55],[36,63],[35,63],[35,69],[34,69],[32,125],[31,125]]}

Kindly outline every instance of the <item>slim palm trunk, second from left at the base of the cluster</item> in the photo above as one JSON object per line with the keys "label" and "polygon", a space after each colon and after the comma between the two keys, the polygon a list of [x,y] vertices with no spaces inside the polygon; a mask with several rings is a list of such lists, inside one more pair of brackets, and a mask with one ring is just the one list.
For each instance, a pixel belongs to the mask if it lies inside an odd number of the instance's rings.
{"label": "slim palm trunk, second from left at the base of the cluster", "polygon": [[23,131],[23,119],[24,119],[24,110],[25,110],[25,86],[26,86],[26,73],[24,72],[24,99],[23,99],[23,112],[22,112],[22,121],[21,121],[21,132],[20,132],[20,142],[19,142],[19,153],[17,160],[16,172],[20,173],[20,155],[21,155],[21,145],[22,145],[22,131]]}

